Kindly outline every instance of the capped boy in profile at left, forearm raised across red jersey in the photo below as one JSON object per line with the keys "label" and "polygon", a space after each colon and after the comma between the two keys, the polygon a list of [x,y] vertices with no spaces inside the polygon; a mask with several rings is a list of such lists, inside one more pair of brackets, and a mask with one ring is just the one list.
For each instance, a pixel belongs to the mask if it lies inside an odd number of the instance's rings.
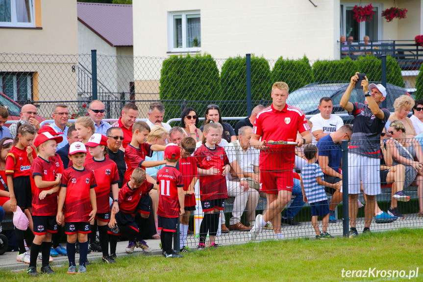
{"label": "capped boy in profile at left, forearm raised across red jersey", "polygon": [[32,221],[34,223],[34,240],[31,245],[29,267],[26,273],[38,276],[37,256],[41,251],[43,264],[41,273],[54,274],[49,265],[51,234],[57,232],[55,215],[57,214],[57,191],[59,191],[62,175],[58,173],[56,164],[50,157],[56,152],[56,143],[63,137],[54,137],[49,132],[39,134],[34,141],[38,157],[31,164],[31,175],[34,179],[32,195]]}

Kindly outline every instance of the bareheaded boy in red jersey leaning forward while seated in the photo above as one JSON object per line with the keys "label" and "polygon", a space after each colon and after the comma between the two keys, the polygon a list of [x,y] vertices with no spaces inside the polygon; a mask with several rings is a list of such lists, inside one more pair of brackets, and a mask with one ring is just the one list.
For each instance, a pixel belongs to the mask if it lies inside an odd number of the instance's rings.
{"label": "bareheaded boy in red jersey leaning forward while seated", "polygon": [[[128,148],[128,147],[126,147]],[[135,237],[138,235],[139,228],[135,222],[134,213],[147,213],[146,202],[149,191],[156,189],[155,185],[146,180],[146,171],[141,168],[133,170],[130,180],[124,184],[119,191],[119,212],[110,216],[109,231],[110,236],[110,256],[116,257],[116,244],[118,242],[118,235],[124,233],[128,236],[129,246],[137,246],[142,248],[145,252],[151,252],[151,248],[147,250],[141,246],[144,242],[136,241]],[[149,197],[149,196],[148,196]],[[147,216],[149,215],[149,211]],[[128,253],[128,248],[125,251]],[[129,248],[131,249],[131,248]],[[133,249],[131,249],[133,252]]]}

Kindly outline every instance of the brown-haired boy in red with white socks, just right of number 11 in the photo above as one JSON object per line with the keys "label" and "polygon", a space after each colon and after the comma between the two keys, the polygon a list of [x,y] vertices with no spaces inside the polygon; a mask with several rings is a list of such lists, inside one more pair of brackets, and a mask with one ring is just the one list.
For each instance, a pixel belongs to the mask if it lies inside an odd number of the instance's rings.
{"label": "brown-haired boy in red with white socks, just right of number 11", "polygon": [[181,236],[179,237],[179,245],[181,247],[181,253],[190,252],[190,248],[186,246],[188,224],[191,212],[196,210],[196,193],[194,192],[194,186],[199,179],[197,162],[195,157],[191,156],[196,148],[196,141],[191,137],[184,137],[181,141],[181,160],[179,161],[179,171],[182,173],[184,178],[184,209],[185,214],[180,217],[180,231]]}

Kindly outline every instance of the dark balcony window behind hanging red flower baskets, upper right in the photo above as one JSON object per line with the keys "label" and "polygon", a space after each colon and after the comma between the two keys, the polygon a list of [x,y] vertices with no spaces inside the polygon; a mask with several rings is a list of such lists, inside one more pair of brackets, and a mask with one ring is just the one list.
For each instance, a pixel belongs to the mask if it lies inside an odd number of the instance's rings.
{"label": "dark balcony window behind hanging red flower baskets, upper right", "polygon": [[[357,23],[357,21],[354,20],[352,8],[355,5],[360,5],[360,3],[345,3],[341,5],[341,35],[345,35],[347,38],[348,36],[352,36],[354,41],[363,41],[366,35],[368,35],[372,41],[382,40],[382,4],[372,3],[374,11],[372,20],[370,22],[365,21],[361,23]],[[368,3],[363,3],[362,5],[368,5]]]}

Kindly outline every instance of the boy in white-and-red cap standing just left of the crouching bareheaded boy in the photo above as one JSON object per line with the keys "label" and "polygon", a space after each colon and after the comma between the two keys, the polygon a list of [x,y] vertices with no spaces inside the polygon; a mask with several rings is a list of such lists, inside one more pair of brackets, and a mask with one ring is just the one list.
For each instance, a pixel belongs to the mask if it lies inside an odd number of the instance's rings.
{"label": "boy in white-and-red cap standing just left of the crouching bareheaded boy", "polygon": [[[108,234],[107,234],[107,223],[110,220],[110,205],[109,205],[109,194],[110,188],[113,193],[113,212],[116,213],[119,211],[118,205],[118,194],[119,194],[119,173],[116,163],[109,158],[106,158],[108,153],[107,148],[107,137],[101,135],[100,133],[94,133],[85,146],[89,147],[89,152],[93,158],[87,160],[84,166],[92,171],[94,171],[94,177],[96,178],[97,186],[95,188],[96,198],[97,198],[97,226],[91,224],[91,234],[90,234],[90,249],[95,250],[96,242],[96,233],[94,232],[99,229],[99,239],[101,252],[103,256],[101,261],[106,263],[116,263],[113,257],[109,256],[109,246],[108,246]],[[98,248],[100,249],[100,248]]]}

